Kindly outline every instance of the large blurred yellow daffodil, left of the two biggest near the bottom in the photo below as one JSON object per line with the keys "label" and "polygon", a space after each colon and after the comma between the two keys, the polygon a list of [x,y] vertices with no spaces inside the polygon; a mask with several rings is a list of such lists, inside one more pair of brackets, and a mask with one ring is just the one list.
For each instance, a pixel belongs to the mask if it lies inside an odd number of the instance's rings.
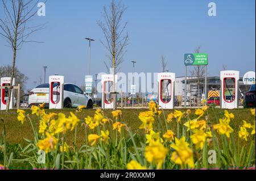
{"label": "large blurred yellow daffodil, left of the two biggest near the bottom", "polygon": [[161,169],[168,149],[164,148],[159,141],[152,141],[151,145],[145,148],[145,157],[149,163],[155,163],[156,169]]}

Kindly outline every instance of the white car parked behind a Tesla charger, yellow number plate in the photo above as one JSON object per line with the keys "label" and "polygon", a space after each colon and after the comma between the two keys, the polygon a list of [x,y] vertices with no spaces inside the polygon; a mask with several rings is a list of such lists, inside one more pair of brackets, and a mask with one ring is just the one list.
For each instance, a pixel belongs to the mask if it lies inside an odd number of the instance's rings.
{"label": "white car parked behind a Tesla charger, yellow number plate", "polygon": [[[57,91],[57,83],[53,85],[53,98],[58,97],[60,94]],[[49,106],[49,83],[44,83],[36,86],[29,92],[28,105],[38,105],[45,103],[45,106]],[[85,95],[85,92],[80,89],[79,86],[73,83],[64,83],[64,108],[71,108],[77,106],[87,106],[88,109],[93,108],[92,98]]]}

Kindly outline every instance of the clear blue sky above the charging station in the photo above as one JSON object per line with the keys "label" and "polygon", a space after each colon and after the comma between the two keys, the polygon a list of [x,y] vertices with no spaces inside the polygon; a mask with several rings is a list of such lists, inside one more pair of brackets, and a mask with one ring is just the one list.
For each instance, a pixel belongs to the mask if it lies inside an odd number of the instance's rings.
{"label": "clear blue sky above the charging station", "polygon": [[[29,78],[27,89],[43,79],[43,66],[48,75],[65,75],[65,82],[83,85],[88,74],[88,41],[92,37],[92,74],[106,71],[104,36],[97,20],[102,20],[102,7],[110,0],[48,0],[46,16],[36,16],[34,24],[47,23],[46,29],[34,33],[30,40],[42,44],[24,44],[16,65]],[[208,3],[215,2],[217,16],[208,16]],[[131,60],[138,63],[135,71],[160,72],[160,56],[168,60],[168,70],[184,76],[184,53],[201,46],[209,54],[209,75],[219,75],[222,65],[229,70],[255,71],[255,1],[254,0],[123,0],[127,10],[130,40],[121,71],[132,72]],[[2,7],[0,16],[3,16]],[[0,39],[0,66],[11,64],[12,52]]]}

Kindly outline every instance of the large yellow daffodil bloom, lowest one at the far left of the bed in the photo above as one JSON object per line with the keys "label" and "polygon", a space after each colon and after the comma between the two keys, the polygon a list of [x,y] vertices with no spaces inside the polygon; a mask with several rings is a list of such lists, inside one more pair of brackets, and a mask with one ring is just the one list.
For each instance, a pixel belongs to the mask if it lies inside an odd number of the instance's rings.
{"label": "large yellow daffodil bloom, lowest one at the far left of the bed", "polygon": [[39,140],[38,144],[36,145],[40,150],[44,150],[46,153],[48,153],[49,151],[56,149],[57,138],[47,132],[46,136],[47,137],[44,140]]}

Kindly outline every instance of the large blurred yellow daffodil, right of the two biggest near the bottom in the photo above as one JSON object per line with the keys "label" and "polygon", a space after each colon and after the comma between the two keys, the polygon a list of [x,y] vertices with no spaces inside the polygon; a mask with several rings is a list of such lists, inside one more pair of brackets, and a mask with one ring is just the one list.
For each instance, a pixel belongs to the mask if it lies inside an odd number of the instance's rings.
{"label": "large blurred yellow daffodil, right of the two biggest near the bottom", "polygon": [[184,167],[188,165],[191,168],[195,167],[193,161],[193,151],[189,148],[189,144],[185,142],[185,137],[181,137],[179,139],[175,139],[175,144],[171,145],[175,151],[172,152],[171,160],[176,164]]}

